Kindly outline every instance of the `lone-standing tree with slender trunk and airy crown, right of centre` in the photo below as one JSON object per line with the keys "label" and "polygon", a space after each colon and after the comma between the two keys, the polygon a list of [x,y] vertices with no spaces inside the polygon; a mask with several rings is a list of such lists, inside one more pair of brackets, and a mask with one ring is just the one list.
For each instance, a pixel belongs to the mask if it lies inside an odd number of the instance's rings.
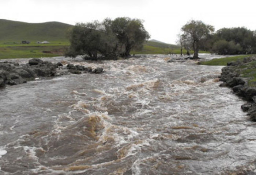
{"label": "lone-standing tree with slender trunk and airy crown, right of centre", "polygon": [[181,31],[183,32],[182,39],[194,50],[193,59],[198,59],[200,44],[214,31],[214,27],[206,25],[202,21],[191,20],[181,28]]}

